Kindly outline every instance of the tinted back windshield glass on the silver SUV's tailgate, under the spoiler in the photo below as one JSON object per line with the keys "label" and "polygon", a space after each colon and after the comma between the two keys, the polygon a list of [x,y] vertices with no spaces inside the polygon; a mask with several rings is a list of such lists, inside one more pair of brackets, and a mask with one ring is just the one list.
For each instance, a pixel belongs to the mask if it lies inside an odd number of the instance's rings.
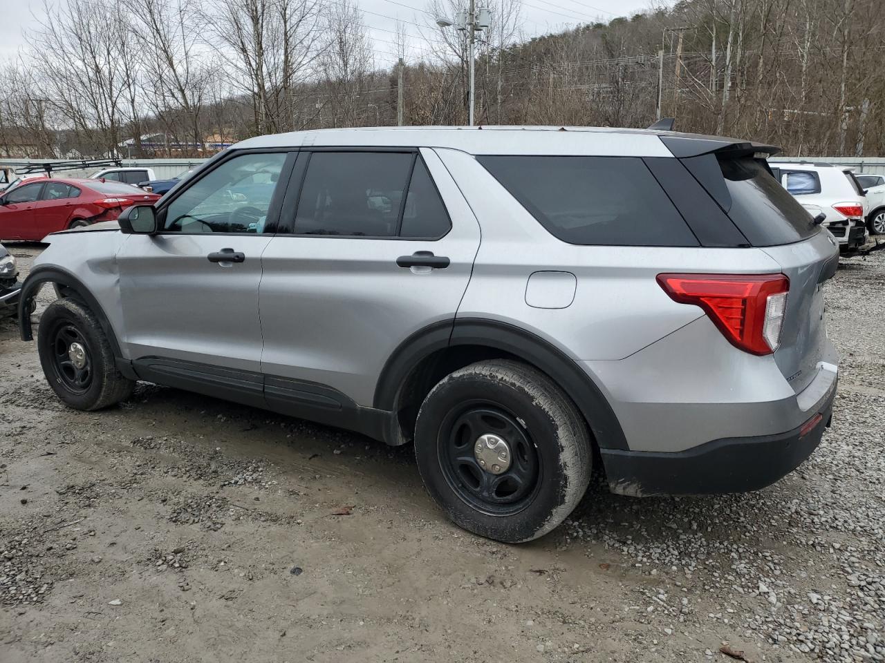
{"label": "tinted back windshield glass on the silver SUV's tailgate, under the spoiler", "polygon": [[754,247],[791,244],[817,232],[812,216],[771,176],[765,162],[751,156],[718,161],[731,200],[714,197]]}

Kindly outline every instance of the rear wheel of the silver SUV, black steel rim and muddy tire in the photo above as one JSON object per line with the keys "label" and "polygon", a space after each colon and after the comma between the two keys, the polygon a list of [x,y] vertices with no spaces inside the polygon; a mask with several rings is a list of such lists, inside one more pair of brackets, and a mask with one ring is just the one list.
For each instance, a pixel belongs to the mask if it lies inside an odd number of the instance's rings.
{"label": "rear wheel of the silver SUV, black steel rim and muddy tire", "polygon": [[549,377],[512,360],[456,370],[424,400],[415,456],[427,492],[452,521],[521,543],[566,519],[587,489],[589,432]]}

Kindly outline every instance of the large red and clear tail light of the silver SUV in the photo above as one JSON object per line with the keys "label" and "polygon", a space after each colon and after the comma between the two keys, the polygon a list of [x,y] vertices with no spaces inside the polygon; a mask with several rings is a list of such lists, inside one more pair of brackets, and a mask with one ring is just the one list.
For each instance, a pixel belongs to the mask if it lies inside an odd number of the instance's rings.
{"label": "large red and clear tail light of the silver SUV", "polygon": [[694,304],[735,347],[772,354],[781,345],[789,278],[783,274],[658,274],[673,301]]}

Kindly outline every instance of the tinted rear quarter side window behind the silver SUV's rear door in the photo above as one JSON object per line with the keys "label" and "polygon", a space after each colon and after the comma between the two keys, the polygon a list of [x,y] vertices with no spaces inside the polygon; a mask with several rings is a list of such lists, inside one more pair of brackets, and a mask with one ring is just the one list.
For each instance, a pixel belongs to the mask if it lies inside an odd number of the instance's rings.
{"label": "tinted rear quarter side window behind the silver SUV's rear door", "polygon": [[480,156],[550,234],[570,244],[696,247],[643,160],[630,156]]}

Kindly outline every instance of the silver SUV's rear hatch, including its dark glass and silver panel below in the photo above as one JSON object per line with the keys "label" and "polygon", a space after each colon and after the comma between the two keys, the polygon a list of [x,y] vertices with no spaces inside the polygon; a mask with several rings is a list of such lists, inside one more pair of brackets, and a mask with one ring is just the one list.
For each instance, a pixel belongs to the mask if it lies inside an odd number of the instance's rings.
{"label": "silver SUV's rear hatch, including its dark glass and silver panel below", "polygon": [[801,392],[817,375],[820,362],[833,359],[827,356],[822,286],[835,274],[839,249],[773,178],[766,163],[773,151],[734,143],[683,156],[681,162],[743,234],[745,246],[764,250],[789,278],[781,345],[773,358],[793,390]]}

